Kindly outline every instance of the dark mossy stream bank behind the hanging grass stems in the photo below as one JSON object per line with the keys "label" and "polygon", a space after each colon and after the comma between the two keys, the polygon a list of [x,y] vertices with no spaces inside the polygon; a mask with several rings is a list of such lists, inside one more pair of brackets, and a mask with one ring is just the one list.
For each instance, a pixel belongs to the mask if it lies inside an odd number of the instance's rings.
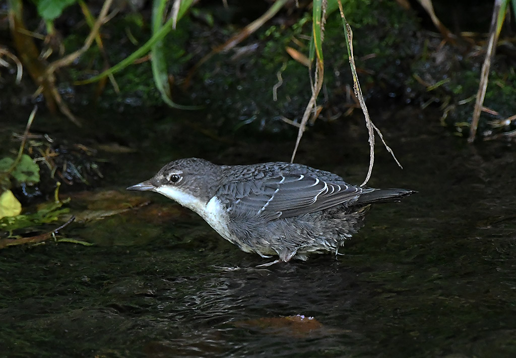
{"label": "dark mossy stream bank behind the hanging grass stems", "polygon": [[[440,35],[422,26],[413,11],[393,1],[345,2],[345,12],[353,29],[354,56],[368,103],[397,99],[423,107],[440,106],[443,123],[458,134],[467,132],[474,104],[471,99],[478,89],[482,51],[469,42],[443,42]],[[252,15],[238,8],[224,11],[218,5],[207,4],[195,16],[182,19],[165,38],[174,100],[204,106],[206,122],[223,131],[242,127],[281,131],[288,127],[282,117],[298,121],[311,94],[308,68],[286,52],[290,46],[308,55],[309,12],[294,9],[289,15],[280,13],[236,48],[213,56],[185,87],[184,79],[192,66],[238,32],[246,16]],[[129,13],[115,18],[104,30],[108,34],[106,54],[111,65],[148,38],[147,21],[141,15]],[[129,33],[134,43],[128,40]],[[80,36],[77,41],[74,38],[71,35],[66,39],[67,48],[74,48],[80,42]],[[352,79],[338,11],[328,16],[323,49],[325,86],[318,104],[324,110],[319,117],[330,119],[356,105],[349,99]],[[98,50],[92,49],[83,57],[82,64],[73,69],[72,79],[84,77],[86,64],[90,70],[99,69],[99,58]],[[507,56],[495,57],[485,106],[498,115],[482,115],[481,134],[513,129],[510,124],[505,127],[490,124],[493,119],[509,117],[516,111],[511,100],[516,98],[516,86],[510,63]],[[131,111],[129,108],[134,106],[162,105],[148,61],[132,65],[115,77],[120,92],[116,93],[108,84],[99,98],[101,106],[110,107],[118,102],[120,111],[124,108]],[[275,100],[273,89],[277,91]],[[92,96],[91,92],[82,94],[77,96],[83,98],[81,103]]]}

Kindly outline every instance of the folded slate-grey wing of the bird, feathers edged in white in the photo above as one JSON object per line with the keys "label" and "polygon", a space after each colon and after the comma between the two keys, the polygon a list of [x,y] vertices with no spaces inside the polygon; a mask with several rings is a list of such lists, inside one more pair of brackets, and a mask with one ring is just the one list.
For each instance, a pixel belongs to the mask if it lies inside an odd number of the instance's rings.
{"label": "folded slate-grey wing of the bird, feathers edged in white", "polygon": [[233,215],[253,212],[266,220],[275,220],[324,210],[347,201],[351,204],[362,193],[362,188],[310,175],[285,174],[263,179],[259,186],[249,182],[230,183],[224,186],[223,192],[231,194],[225,195],[225,201]]}

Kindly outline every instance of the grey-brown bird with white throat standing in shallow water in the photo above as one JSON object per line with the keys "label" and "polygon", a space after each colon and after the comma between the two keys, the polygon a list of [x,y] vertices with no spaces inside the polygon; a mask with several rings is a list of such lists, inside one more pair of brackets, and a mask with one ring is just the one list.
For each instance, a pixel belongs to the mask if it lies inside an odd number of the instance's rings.
{"label": "grey-brown bird with white throat standing in shallow water", "polygon": [[279,256],[262,266],[337,253],[363,225],[369,204],[414,193],[350,185],[301,164],[216,165],[197,158],[170,162],[127,190],[163,194],[201,215],[241,250]]}

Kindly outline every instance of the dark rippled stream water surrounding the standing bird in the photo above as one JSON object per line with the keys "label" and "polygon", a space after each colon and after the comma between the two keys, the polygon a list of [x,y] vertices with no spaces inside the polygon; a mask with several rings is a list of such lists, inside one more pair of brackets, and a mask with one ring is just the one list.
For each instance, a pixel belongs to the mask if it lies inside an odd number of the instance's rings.
{"label": "dark rippled stream water surrounding the standing bird", "polygon": [[[410,108],[375,117],[405,169],[378,145],[368,184],[419,193],[376,205],[344,255],[255,269],[265,260],[146,193],[154,204],[66,230],[94,246],[0,253],[0,356],[516,356],[514,147],[469,146]],[[359,124],[316,126],[297,161],[360,183]],[[119,160],[109,189],[180,157],[288,160],[293,143],[159,131],[163,143],[142,136]]]}

